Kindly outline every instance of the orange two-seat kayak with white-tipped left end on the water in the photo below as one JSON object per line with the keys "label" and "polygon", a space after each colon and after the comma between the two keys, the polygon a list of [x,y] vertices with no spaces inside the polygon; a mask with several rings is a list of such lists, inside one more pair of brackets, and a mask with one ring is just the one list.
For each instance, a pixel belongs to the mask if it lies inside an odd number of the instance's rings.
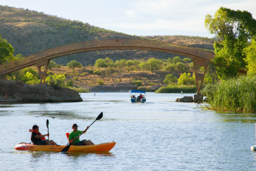
{"label": "orange two-seat kayak with white-tipped left end on the water", "polygon": [[[115,142],[103,143],[97,145],[71,145],[68,152],[84,151],[110,151],[115,146]],[[32,150],[32,151],[56,151],[60,152],[66,145],[33,145],[28,143],[20,143],[14,146],[15,150]]]}

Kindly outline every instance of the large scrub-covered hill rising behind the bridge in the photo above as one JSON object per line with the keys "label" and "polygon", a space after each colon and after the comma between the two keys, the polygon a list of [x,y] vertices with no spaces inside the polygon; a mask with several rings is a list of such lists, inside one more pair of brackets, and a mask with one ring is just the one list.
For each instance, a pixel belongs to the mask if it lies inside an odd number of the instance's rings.
{"label": "large scrub-covered hill rising behind the bridge", "polygon": [[[0,34],[13,46],[14,55],[27,56],[32,53],[75,42],[136,38],[144,40],[158,40],[188,45],[194,48],[213,52],[215,38],[197,36],[133,36],[114,32],[100,27],[91,26],[76,20],[44,14],[43,12],[17,9],[0,5]],[[177,55],[169,53],[140,51],[140,50],[105,50],[84,52],[55,59],[57,64],[66,65],[71,60],[77,60],[82,65],[94,64],[98,58],[167,59]],[[183,58],[181,56],[181,58]]]}

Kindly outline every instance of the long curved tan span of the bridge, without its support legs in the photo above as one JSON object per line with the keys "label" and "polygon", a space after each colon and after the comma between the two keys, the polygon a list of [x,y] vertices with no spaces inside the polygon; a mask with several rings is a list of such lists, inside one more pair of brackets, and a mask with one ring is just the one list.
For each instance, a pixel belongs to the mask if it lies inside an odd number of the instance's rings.
{"label": "long curved tan span of the bridge, without its support legs", "polygon": [[0,73],[14,67],[18,67],[32,61],[48,57],[51,55],[56,55],[58,53],[65,53],[74,50],[80,49],[89,49],[89,48],[99,48],[99,47],[117,47],[117,46],[133,46],[133,47],[146,47],[146,48],[155,48],[163,50],[172,50],[176,52],[188,53],[200,58],[207,60],[213,59],[214,54],[202,51],[196,48],[191,48],[189,46],[160,42],[160,41],[150,41],[150,40],[136,40],[136,39],[118,39],[118,40],[97,40],[97,41],[87,41],[79,42],[73,44],[67,44],[58,46],[55,48],[43,50],[32,55],[26,56],[24,58],[11,61],[10,63],[5,63],[0,65]]}

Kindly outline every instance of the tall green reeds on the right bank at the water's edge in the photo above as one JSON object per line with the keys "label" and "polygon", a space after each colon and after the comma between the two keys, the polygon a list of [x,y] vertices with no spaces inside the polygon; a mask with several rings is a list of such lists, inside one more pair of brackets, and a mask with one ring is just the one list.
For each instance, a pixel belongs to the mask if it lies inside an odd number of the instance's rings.
{"label": "tall green reeds on the right bank at the water's edge", "polygon": [[201,92],[213,110],[256,111],[256,76],[239,76],[217,84],[208,84]]}

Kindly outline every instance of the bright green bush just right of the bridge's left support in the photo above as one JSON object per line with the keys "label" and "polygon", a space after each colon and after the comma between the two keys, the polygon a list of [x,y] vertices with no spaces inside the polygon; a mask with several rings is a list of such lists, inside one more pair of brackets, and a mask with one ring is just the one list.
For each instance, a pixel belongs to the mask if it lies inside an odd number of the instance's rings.
{"label": "bright green bush just right of the bridge's left support", "polygon": [[60,89],[65,86],[65,75],[49,75],[46,77],[45,82],[51,85],[54,89]]}

